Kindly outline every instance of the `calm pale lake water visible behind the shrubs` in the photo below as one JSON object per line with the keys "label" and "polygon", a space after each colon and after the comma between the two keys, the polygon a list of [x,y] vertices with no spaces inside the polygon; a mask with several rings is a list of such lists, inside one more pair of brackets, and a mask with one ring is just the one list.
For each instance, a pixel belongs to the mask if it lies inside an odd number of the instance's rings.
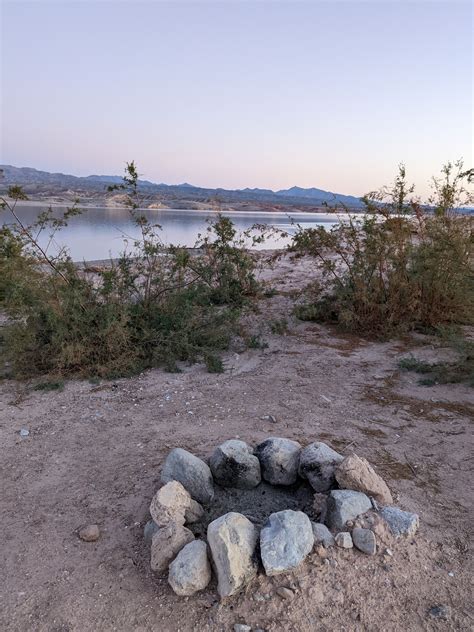
{"label": "calm pale lake water visible behind the shrubs", "polygon": [[[38,213],[47,205],[17,206],[17,213],[26,224],[32,224]],[[65,207],[56,207],[55,213],[61,213]],[[206,220],[216,218],[213,211],[196,210],[149,210],[143,213],[162,227],[162,239],[166,244],[192,247],[196,243],[199,233],[207,228]],[[248,229],[253,224],[268,224],[280,230],[293,234],[296,230],[294,223],[305,228],[325,226],[327,228],[337,221],[334,215],[324,213],[253,213],[227,212],[222,213],[230,217],[239,231]],[[0,214],[0,224],[10,223],[8,211]],[[127,209],[120,208],[87,208],[81,215],[73,217],[68,226],[61,229],[54,242],[50,245],[52,252],[59,246],[66,246],[75,261],[93,261],[117,257],[124,250],[124,238],[130,243],[139,237],[137,226],[134,225]],[[47,231],[40,239],[42,245],[49,241]],[[289,238],[271,237],[258,248],[283,248]]]}

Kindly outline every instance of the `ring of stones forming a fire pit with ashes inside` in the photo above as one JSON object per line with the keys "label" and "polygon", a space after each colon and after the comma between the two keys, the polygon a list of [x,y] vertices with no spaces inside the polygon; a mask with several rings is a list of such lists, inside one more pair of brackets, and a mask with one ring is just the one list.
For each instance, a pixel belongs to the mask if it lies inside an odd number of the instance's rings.
{"label": "ring of stones forming a fire pit with ashes inside", "polygon": [[[321,442],[303,448],[271,437],[252,449],[231,439],[215,449],[209,464],[175,448],[161,480],[145,541],[152,570],[168,571],[170,586],[182,596],[206,588],[214,573],[219,596],[229,597],[261,566],[268,576],[288,573],[314,547],[356,547],[375,555],[384,533],[411,537],[419,525],[416,514],[392,506],[389,488],[368,461]],[[248,510],[233,511],[246,496]],[[227,511],[213,518],[222,498]],[[267,509],[275,502],[284,507],[259,521],[254,509],[264,498]]]}

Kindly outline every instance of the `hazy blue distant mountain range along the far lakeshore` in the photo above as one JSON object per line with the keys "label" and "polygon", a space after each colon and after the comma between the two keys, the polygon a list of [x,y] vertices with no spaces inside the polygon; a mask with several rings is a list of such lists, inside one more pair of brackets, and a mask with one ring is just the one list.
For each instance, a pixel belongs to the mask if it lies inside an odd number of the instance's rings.
{"label": "hazy blue distant mountain range along the far lakeshore", "polygon": [[[38,193],[41,195],[58,195],[66,192],[80,192],[105,194],[106,188],[110,184],[120,184],[120,176],[90,175],[78,177],[64,173],[49,173],[39,171],[31,167],[14,167],[12,165],[0,165],[0,189],[6,189],[12,184],[21,185],[27,193]],[[148,195],[166,194],[166,197],[196,200],[209,200],[219,198],[223,201],[255,201],[275,204],[297,204],[300,206],[317,206],[322,204],[344,204],[350,208],[362,206],[359,198],[352,195],[342,195],[316,189],[314,187],[303,189],[301,187],[291,187],[280,191],[271,189],[208,189],[194,186],[187,182],[183,184],[168,185],[156,184],[148,180],[139,181],[140,190]]]}

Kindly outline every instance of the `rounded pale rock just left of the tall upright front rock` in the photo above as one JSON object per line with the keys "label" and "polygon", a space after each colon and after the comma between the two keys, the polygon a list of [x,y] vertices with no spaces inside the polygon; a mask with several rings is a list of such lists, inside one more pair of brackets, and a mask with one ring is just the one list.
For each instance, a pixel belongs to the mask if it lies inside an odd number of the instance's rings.
{"label": "rounded pale rock just left of the tall upright front rock", "polygon": [[194,595],[211,581],[207,545],[202,540],[186,544],[171,562],[168,583],[177,595]]}

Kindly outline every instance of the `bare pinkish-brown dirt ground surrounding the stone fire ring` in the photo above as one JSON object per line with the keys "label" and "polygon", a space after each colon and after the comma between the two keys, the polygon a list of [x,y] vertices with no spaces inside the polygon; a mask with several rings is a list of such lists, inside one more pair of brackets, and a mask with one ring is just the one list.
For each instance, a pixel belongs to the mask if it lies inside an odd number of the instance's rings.
{"label": "bare pinkish-brown dirt ground surrounding the stone fire ring", "polygon": [[[69,382],[62,392],[0,382],[1,630],[474,628],[473,390],[423,387],[397,369],[409,353],[439,357],[428,338],[373,343],[296,321],[288,296],[301,287],[304,263],[284,260],[272,276],[279,294],[262,301],[254,323],[268,347],[228,353],[224,374],[196,365]],[[272,333],[285,314],[288,332]],[[214,582],[177,597],[150,571],[143,543],[166,455],[180,446],[207,458],[225,439],[268,436],[366,457],[396,503],[420,515],[416,538],[380,542],[374,557],[314,552],[295,573],[260,573],[222,603]],[[77,536],[89,523],[101,529],[95,543]],[[294,597],[282,599],[281,586]]]}

